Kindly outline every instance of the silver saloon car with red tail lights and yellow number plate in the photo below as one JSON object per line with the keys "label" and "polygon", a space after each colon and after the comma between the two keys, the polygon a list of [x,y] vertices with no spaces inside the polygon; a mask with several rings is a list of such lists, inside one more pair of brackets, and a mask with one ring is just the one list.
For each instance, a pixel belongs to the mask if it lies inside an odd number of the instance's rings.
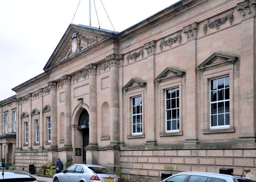
{"label": "silver saloon car with red tail lights and yellow number plate", "polygon": [[74,164],[62,170],[61,173],[53,175],[53,182],[95,181],[120,182],[121,179],[106,167],[89,164]]}

